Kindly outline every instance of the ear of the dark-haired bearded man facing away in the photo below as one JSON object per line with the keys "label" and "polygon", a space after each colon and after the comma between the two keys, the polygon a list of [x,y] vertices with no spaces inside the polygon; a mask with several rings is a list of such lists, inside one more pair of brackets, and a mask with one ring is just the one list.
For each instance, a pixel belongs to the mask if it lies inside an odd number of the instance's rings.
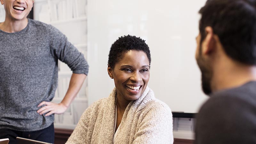
{"label": "ear of the dark-haired bearded man facing away", "polygon": [[209,54],[214,51],[216,41],[215,41],[212,27],[207,26],[207,27],[205,27],[204,30],[205,30],[206,36],[202,43],[202,47],[203,47],[202,52],[204,54]]}

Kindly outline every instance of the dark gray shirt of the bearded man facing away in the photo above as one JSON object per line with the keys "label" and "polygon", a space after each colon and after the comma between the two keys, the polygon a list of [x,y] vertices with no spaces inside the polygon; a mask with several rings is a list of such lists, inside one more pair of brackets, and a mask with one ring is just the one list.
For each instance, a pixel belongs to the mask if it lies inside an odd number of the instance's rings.
{"label": "dark gray shirt of the bearded man facing away", "polygon": [[215,92],[196,117],[196,144],[256,144],[256,82]]}

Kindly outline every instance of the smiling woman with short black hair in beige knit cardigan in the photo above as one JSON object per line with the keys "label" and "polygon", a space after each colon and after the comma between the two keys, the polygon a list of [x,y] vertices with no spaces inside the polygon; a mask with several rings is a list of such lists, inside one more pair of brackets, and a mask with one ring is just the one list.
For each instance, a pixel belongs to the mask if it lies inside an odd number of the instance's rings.
{"label": "smiling woman with short black hair in beige knit cardigan", "polygon": [[147,87],[150,63],[144,40],[119,37],[108,55],[115,88],[85,110],[67,144],[172,144],[172,112]]}

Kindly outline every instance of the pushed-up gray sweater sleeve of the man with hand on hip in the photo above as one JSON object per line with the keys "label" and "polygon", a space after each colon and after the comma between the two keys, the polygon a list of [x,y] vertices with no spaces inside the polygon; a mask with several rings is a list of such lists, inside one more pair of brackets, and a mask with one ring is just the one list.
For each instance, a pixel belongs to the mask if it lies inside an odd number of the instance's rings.
{"label": "pushed-up gray sweater sleeve of the man with hand on hip", "polygon": [[71,44],[57,28],[49,26],[51,51],[60,61],[66,63],[76,74],[88,74],[89,66],[84,55]]}

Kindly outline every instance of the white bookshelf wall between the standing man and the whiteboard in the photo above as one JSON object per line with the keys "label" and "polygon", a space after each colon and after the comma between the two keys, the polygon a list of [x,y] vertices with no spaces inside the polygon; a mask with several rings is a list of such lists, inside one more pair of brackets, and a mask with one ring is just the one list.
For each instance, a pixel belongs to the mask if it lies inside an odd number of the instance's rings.
{"label": "white bookshelf wall between the standing man and the whiteboard", "polygon": [[[87,59],[87,0],[36,0],[34,19],[58,28],[68,41]],[[72,71],[63,62],[58,62],[58,88],[52,102],[59,103],[68,90]],[[84,81],[80,92],[64,114],[55,115],[54,127],[74,129],[84,110],[88,107],[88,81]]]}

